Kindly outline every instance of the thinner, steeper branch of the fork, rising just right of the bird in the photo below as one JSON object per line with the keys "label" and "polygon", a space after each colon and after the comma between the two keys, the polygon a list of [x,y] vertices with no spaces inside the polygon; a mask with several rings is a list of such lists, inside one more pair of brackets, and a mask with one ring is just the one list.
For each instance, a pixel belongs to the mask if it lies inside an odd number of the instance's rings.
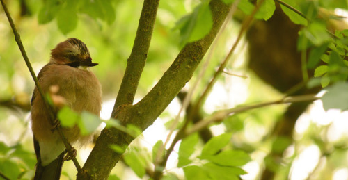
{"label": "thinner, steeper branch of the fork, rising just right of the bird", "polygon": [[125,76],[123,76],[111,117],[116,116],[116,109],[119,106],[133,104],[134,95],[148,56],[158,5],[159,0],[144,1],[132,53],[127,61]]}

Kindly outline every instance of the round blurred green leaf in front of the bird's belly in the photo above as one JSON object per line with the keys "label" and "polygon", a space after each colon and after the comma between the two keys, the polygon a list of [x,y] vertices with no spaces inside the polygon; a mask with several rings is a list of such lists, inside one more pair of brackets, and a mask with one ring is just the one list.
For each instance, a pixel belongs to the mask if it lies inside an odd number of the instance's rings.
{"label": "round blurred green leaf in front of the bird's belly", "polygon": [[65,127],[74,126],[81,118],[79,114],[72,111],[68,106],[61,108],[61,110],[58,111],[57,117],[61,122],[61,125]]}

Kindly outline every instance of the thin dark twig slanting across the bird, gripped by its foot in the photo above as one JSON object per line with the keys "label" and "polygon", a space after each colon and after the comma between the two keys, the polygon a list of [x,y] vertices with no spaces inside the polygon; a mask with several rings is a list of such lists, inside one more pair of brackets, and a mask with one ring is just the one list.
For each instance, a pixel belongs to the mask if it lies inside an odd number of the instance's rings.
{"label": "thin dark twig slanting across the bird, gripped by its foot", "polygon": [[[29,69],[29,72],[31,74],[31,77],[33,78],[34,82],[35,82],[35,85],[36,85],[36,88],[38,88],[38,92],[40,93],[42,99],[44,100],[44,104],[45,106],[47,107],[47,110],[49,111],[49,116],[51,117],[50,120],[51,120],[51,124],[54,124],[54,120],[56,120],[56,115],[54,115],[54,111],[53,111],[53,108],[52,106],[49,105],[48,101],[47,101],[47,97],[45,96],[45,93],[42,91],[42,88],[40,87],[40,84],[38,82],[38,78],[36,77],[35,75],[35,72],[33,70],[33,67],[31,67],[31,63],[29,61],[29,58],[28,56],[26,55],[26,51],[24,49],[24,46],[22,44],[22,40],[20,38],[20,35],[19,33],[17,32],[17,28],[15,27],[15,24],[13,23],[13,19],[10,15],[10,13],[8,12],[8,8],[6,6],[6,3],[1,0],[1,4],[3,6],[3,10],[5,11],[6,13],[6,17],[8,19],[8,22],[10,22],[10,26],[13,30],[13,34],[15,35],[15,41],[17,42],[18,44],[18,47],[22,53],[22,56],[24,58],[24,61],[26,63],[26,66],[28,67]],[[58,134],[59,136],[61,137],[66,149],[68,149],[68,152],[71,152],[72,151],[72,146],[70,145],[70,143],[68,142],[68,140],[65,138],[64,134],[63,134],[63,131],[61,130],[61,127],[58,126],[56,131],[58,131]],[[76,158],[72,158],[72,161],[74,162],[74,165],[76,166],[76,169],[77,171],[79,172],[81,170],[81,166],[79,165],[79,162],[77,161]]]}

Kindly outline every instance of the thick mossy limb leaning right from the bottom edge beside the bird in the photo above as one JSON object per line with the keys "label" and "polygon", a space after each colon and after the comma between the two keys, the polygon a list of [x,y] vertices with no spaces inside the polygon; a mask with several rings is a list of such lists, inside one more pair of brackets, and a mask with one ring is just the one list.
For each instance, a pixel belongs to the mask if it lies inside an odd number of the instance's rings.
{"label": "thick mossy limb leaning right from the bottom edge beside the bird", "polygon": [[[171,67],[139,103],[119,111],[118,120],[123,124],[134,124],[145,130],[191,79],[228,13],[229,6],[220,0],[212,0],[209,6],[213,18],[210,32],[205,38],[185,45]],[[129,145],[132,140],[131,136],[116,129],[104,129],[84,165],[86,173],[79,173],[77,179],[106,179],[122,155],[110,149],[109,145]]]}

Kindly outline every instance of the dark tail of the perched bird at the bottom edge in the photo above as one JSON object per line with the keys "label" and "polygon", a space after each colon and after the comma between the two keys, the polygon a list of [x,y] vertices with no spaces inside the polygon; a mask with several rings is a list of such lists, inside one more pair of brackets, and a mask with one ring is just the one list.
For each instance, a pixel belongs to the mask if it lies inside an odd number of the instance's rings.
{"label": "dark tail of the perched bird at the bottom edge", "polygon": [[36,164],[34,180],[59,180],[63,166],[63,157],[65,152],[62,152],[49,165],[42,166],[38,161]]}

